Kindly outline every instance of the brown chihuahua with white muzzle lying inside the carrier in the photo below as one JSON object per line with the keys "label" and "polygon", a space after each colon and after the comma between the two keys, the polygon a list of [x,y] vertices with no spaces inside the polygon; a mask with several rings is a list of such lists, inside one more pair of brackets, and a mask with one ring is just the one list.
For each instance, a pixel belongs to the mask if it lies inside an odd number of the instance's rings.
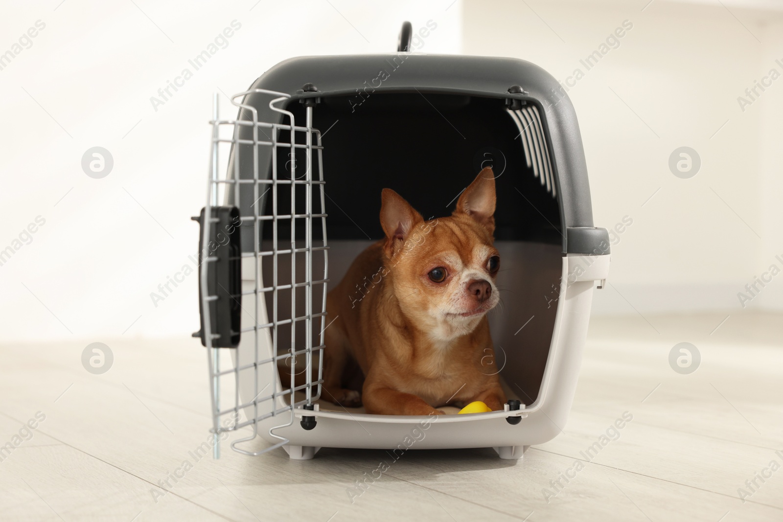
{"label": "brown chihuahua with white muzzle lying inside the carrier", "polygon": [[[325,398],[387,415],[442,414],[438,406],[471,401],[503,409],[499,377],[483,365],[494,360],[486,313],[500,301],[495,202],[489,167],[448,218],[425,221],[383,190],[385,239],[359,254],[327,295],[334,320],[325,332]],[[357,365],[361,394],[349,383]]]}

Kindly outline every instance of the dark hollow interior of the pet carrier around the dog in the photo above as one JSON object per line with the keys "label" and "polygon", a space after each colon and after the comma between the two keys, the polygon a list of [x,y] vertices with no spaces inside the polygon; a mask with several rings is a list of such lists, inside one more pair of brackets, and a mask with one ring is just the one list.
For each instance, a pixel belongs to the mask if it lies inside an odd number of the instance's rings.
{"label": "dark hollow interior of the pet carrier around the dog", "polygon": [[[305,124],[301,103],[292,102],[287,110],[294,113],[298,125]],[[538,121],[540,118],[543,111]],[[324,97],[313,110],[313,126],[323,136],[331,287],[340,281],[361,250],[383,237],[378,221],[381,189],[395,189],[424,218],[443,217],[451,214],[457,196],[478,171],[493,167],[497,192],[496,247],[502,260],[497,281],[502,300],[489,313],[496,358],[487,362],[485,371],[499,371],[510,397],[532,404],[539,394],[549,355],[563,255],[557,186],[550,162],[543,157],[548,147],[542,142],[540,124],[532,117],[525,119],[523,114],[515,120],[504,99],[432,92],[375,92],[363,98]],[[297,155],[295,161],[301,175],[304,160]],[[279,177],[286,175],[290,164],[290,149],[279,149]],[[277,212],[289,214],[290,185],[278,185],[277,190]],[[297,193],[296,199],[304,203],[304,192]],[[318,205],[314,205],[314,211],[318,211]],[[272,214],[272,198],[266,197],[264,206],[264,213]],[[296,231],[298,237],[305,232],[305,220],[301,221],[296,225],[302,227],[301,233]],[[290,245],[290,220],[278,221],[277,227],[282,249]],[[312,235],[319,243],[320,226],[313,227]],[[269,248],[272,237],[272,224],[266,221],[264,250]],[[304,263],[304,256],[296,258],[297,273],[304,272]],[[272,280],[272,270],[270,259],[265,258],[265,281]],[[280,256],[277,283],[289,283],[290,272],[290,257]],[[323,256],[314,256],[312,272],[323,272]],[[304,306],[305,302],[304,289],[295,291],[299,314],[299,305]],[[313,291],[313,302],[319,304],[321,296],[319,286]],[[271,311],[272,295],[266,293],[265,297]],[[290,308],[290,291],[279,292],[278,319],[290,318]],[[327,323],[331,319],[327,318]],[[317,344],[322,323],[314,323],[312,335]],[[294,327],[294,344],[301,349],[305,347],[305,326],[299,322]],[[290,325],[278,326],[277,335],[278,352],[289,350]],[[290,369],[286,366],[290,366],[290,359],[280,366],[283,389],[290,383]],[[304,371],[304,365],[297,362],[297,373]],[[321,409],[343,411],[323,399],[319,404]]]}

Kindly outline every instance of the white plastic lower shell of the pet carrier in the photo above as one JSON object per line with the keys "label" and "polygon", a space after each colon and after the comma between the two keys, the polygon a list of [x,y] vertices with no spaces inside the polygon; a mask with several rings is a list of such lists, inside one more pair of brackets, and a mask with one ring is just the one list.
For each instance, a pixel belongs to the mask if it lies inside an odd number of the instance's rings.
{"label": "white plastic lower shell of the pet carrier", "polygon": [[[518,411],[486,412],[474,414],[456,414],[456,408],[446,407],[446,415],[440,416],[384,416],[366,414],[362,408],[346,409],[320,399],[315,401],[315,410],[294,409],[258,421],[257,434],[270,445],[282,445],[290,459],[312,459],[320,448],[371,448],[384,450],[406,449],[445,449],[445,448],[494,448],[501,459],[521,459],[531,445],[550,441],[563,430],[571,409],[579,368],[582,363],[582,351],[590,319],[590,305],[596,281],[601,288],[608,275],[608,254],[604,255],[566,255],[561,257],[562,269],[557,312],[554,320],[550,351],[544,369],[543,380],[536,400],[525,405],[524,398],[518,397],[514,387],[505,382],[508,398],[521,401]],[[331,267],[330,267],[331,270]],[[252,260],[243,260],[243,290],[253,290],[255,274]],[[259,310],[261,321],[266,321],[267,312]],[[554,303],[553,303],[554,306]],[[243,303],[242,326],[253,326],[255,315],[254,300]],[[524,322],[527,317],[517,318]],[[261,337],[264,338],[264,337]],[[272,357],[271,340],[260,343],[259,358]],[[254,336],[247,335],[236,349],[235,365],[253,362],[255,355]],[[327,347],[328,349],[328,347]],[[258,359],[257,359],[258,360]],[[239,379],[241,403],[252,401],[254,391],[269,393],[271,385],[281,390],[280,377],[276,371],[259,372],[258,383],[252,378]],[[276,380],[276,382],[272,382]],[[507,376],[506,376],[507,381]],[[299,399],[299,396],[297,396]],[[287,399],[274,399],[276,409],[284,409],[290,404]],[[271,412],[272,401],[247,406],[244,414],[247,419],[259,418]],[[507,407],[508,408],[508,407]],[[305,430],[301,427],[302,416],[313,416],[316,427]],[[507,417],[521,417],[518,424],[511,424]],[[293,422],[291,422],[293,420]],[[288,426],[282,426],[290,423]],[[277,427],[277,428],[275,428]],[[272,436],[269,430],[277,437]],[[281,444],[281,438],[287,439]],[[235,442],[236,444],[236,442]],[[241,444],[241,443],[240,443]],[[239,446],[242,448],[243,446]],[[256,452],[263,451],[254,445]],[[246,448],[249,452],[250,448]]]}

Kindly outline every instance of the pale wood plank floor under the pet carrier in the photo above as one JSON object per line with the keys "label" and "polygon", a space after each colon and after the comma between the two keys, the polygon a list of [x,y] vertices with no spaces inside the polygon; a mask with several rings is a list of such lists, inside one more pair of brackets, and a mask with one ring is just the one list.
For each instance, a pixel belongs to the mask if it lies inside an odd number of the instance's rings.
{"label": "pale wood plank floor under the pet carrier", "polygon": [[[45,420],[3,455],[0,519],[783,520],[783,469],[755,476],[783,465],[783,316],[731,315],[715,330],[725,316],[593,319],[564,433],[516,464],[491,449],[408,452],[353,503],[346,488],[383,452],[291,461],[224,444],[217,461],[193,459],[210,422],[197,340],[100,340],[114,351],[102,376],[81,366],[92,340],[6,345],[0,445],[36,412]],[[691,375],[669,367],[680,341],[702,354]],[[623,412],[633,421],[587,463],[580,452]],[[186,459],[193,469],[153,497]]]}

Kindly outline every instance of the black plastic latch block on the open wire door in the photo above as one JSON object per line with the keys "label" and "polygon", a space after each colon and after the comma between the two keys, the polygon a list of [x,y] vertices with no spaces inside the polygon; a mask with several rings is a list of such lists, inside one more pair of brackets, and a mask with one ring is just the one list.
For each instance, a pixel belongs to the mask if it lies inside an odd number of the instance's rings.
{"label": "black plastic latch block on the open wire door", "polygon": [[[198,242],[198,308],[201,329],[193,333],[207,346],[204,329],[204,307],[207,306],[211,346],[236,348],[240,344],[240,311],[242,309],[242,246],[240,211],[237,207],[209,207],[209,237],[204,245],[204,214],[192,218],[200,225]],[[207,295],[202,287],[202,271],[207,271]]]}

